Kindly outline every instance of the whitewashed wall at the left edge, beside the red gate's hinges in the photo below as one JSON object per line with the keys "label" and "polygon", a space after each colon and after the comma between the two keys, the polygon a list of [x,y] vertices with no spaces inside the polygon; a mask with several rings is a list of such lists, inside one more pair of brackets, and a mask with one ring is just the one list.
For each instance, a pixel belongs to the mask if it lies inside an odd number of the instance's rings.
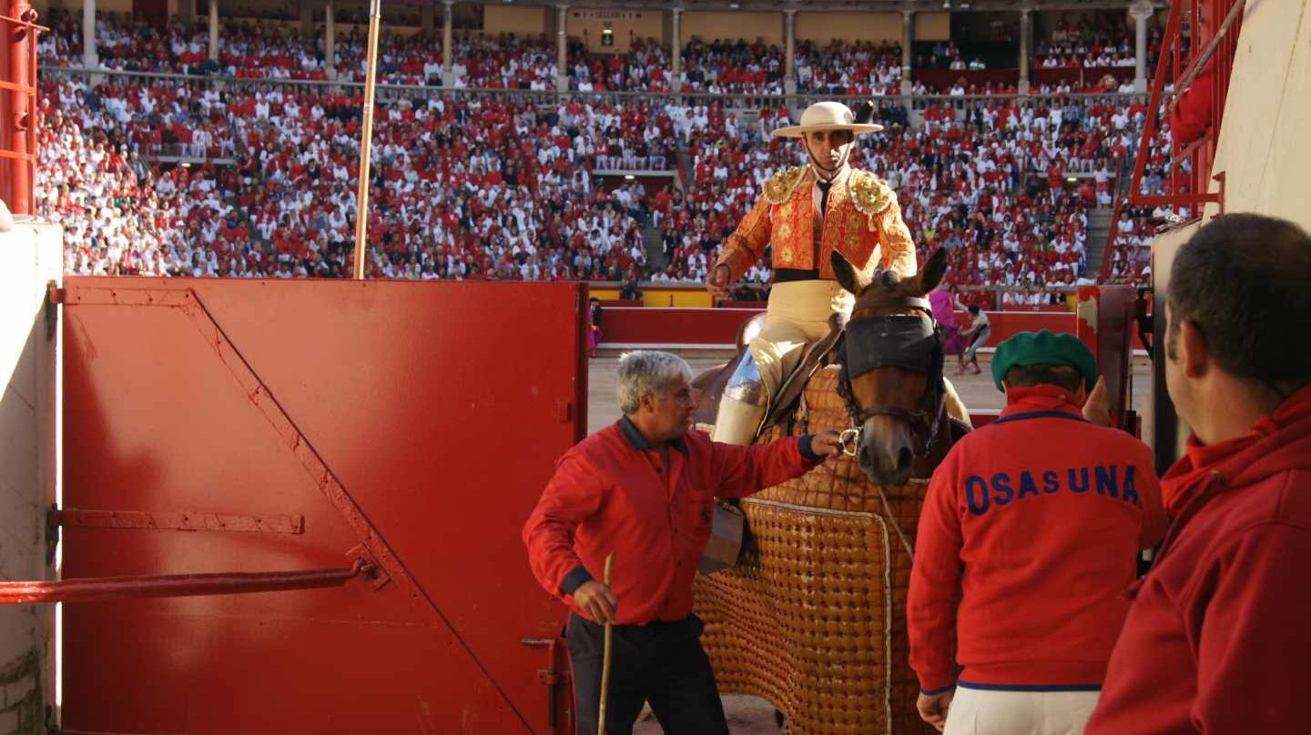
{"label": "whitewashed wall at the left edge, beside the red gate's hinges", "polygon": [[[56,339],[46,282],[60,282],[59,228],[0,233],[0,579],[47,579],[46,511],[55,502]],[[54,331],[58,335],[58,330]],[[43,732],[52,701],[50,605],[0,605],[0,732]]]}

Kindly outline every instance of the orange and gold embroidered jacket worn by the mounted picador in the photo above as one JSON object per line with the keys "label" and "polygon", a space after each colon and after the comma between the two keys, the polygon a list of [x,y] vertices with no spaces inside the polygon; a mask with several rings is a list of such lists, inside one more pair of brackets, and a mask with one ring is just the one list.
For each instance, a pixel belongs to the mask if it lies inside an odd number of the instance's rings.
{"label": "orange and gold embroidered jacket worn by the mounted picador", "polygon": [[810,166],[794,166],[770,177],[764,194],[729,235],[714,265],[729,266],[730,280],[737,280],[772,242],[775,269],[818,267],[819,278],[832,280],[830,253],[838,250],[865,275],[877,269],[915,275],[915,244],[902,221],[897,194],[886,182],[869,172],[851,169],[829,191],[821,223],[815,217],[814,181]]}

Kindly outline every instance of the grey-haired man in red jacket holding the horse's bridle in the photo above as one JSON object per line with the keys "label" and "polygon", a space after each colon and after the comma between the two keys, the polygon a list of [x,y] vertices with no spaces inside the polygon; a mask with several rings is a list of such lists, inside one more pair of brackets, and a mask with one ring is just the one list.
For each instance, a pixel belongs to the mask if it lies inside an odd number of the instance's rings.
{"label": "grey-haired man in red jacket holding the horse's bridle", "polygon": [[[569,449],[523,527],[538,582],[570,608],[579,735],[598,732],[603,631],[614,624],[606,732],[628,735],[642,705],[671,735],[728,735],[692,579],[714,498],[741,498],[840,451],[825,431],[739,447],[692,430],[692,371],[669,352],[619,360],[624,415]],[[614,583],[598,582],[614,552]]]}

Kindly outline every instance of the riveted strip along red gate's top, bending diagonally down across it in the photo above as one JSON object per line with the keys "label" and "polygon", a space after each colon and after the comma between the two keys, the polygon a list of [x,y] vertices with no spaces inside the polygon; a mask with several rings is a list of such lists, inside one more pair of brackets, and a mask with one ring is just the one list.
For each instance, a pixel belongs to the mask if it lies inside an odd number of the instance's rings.
{"label": "riveted strip along red gate's top, bending diagonally down across it", "polygon": [[278,438],[282,440],[292,455],[300,461],[300,465],[309,473],[309,477],[319,486],[319,490],[325,498],[337,508],[337,511],[346,519],[355,536],[359,538],[361,545],[351,549],[347,556],[353,558],[363,558],[366,563],[372,565],[376,571],[375,576],[375,590],[383,587],[389,579],[396,580],[397,584],[405,591],[410,601],[421,605],[426,605],[429,611],[446,625],[451,637],[460,645],[460,647],[468,654],[469,660],[482,672],[488,684],[496,690],[497,696],[505,702],[505,705],[518,717],[523,723],[526,731],[532,732],[534,728],[528,723],[528,718],[524,717],[519,707],[514,704],[510,696],[501,688],[492,672],[488,671],[486,666],[479,659],[479,655],[473,651],[473,647],[460,635],[460,631],[455,629],[455,624],[442,612],[442,608],[423,591],[418,583],[410,576],[405,565],[396,557],[392,552],[391,545],[383,538],[383,536],[374,527],[372,521],[364,514],[363,508],[355,502],[346,487],[337,480],[328,462],[324,461],[323,456],[317,449],[309,443],[309,439],[300,431],[296,423],[287,415],[287,411],[278,404],[278,400],[269,390],[269,386],[260,380],[258,373],[246,362],[241,351],[236,349],[228,335],[219,326],[219,322],[214,318],[214,314],[205,307],[201,297],[194,290],[178,290],[178,288],[80,288],[80,287],[67,287],[64,288],[63,301],[66,305],[88,305],[88,307],[165,307],[181,311],[189,317],[191,326],[201,334],[205,342],[215,351],[219,360],[228,368],[232,377],[241,386],[243,392],[250,404],[260,410],[264,418],[277,432]]}

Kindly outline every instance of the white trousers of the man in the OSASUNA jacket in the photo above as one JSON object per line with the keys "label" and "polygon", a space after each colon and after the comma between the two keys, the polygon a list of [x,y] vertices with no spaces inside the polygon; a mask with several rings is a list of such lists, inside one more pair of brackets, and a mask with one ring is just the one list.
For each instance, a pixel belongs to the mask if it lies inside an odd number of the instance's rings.
{"label": "white trousers of the man in the OSASUNA jacket", "polygon": [[1100,692],[1003,692],[957,687],[944,735],[1083,735]]}

